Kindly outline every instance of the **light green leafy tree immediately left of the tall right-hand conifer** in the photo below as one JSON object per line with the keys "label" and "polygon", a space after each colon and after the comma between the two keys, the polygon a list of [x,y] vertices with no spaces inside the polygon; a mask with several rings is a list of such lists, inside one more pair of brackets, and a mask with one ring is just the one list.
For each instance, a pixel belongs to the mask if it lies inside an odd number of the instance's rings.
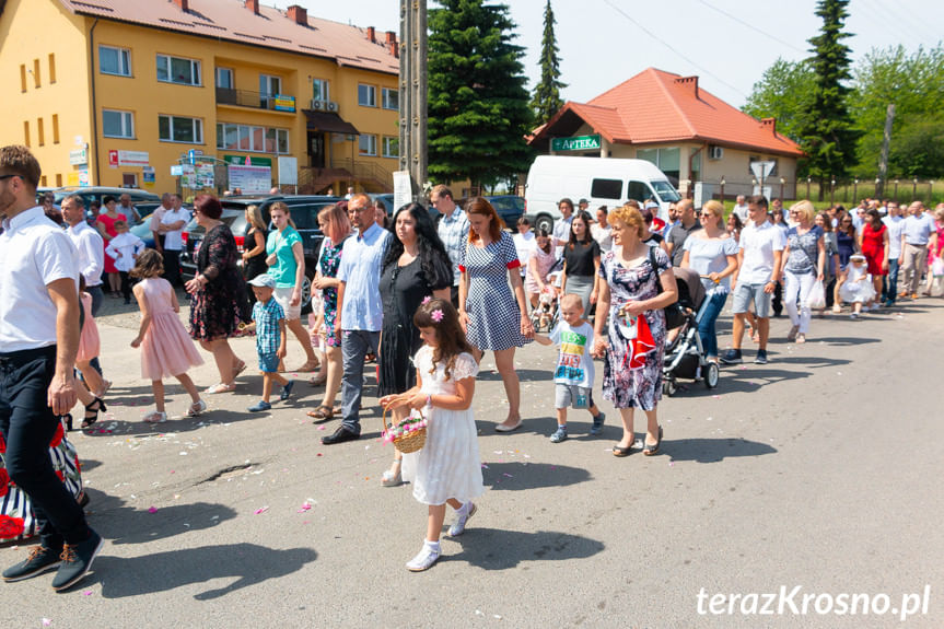
{"label": "light green leafy tree immediately left of the tall right-hand conifer", "polygon": [[754,84],[745,114],[777,118],[777,131],[800,141],[800,128],[813,102],[813,66],[808,60],[777,59]]}

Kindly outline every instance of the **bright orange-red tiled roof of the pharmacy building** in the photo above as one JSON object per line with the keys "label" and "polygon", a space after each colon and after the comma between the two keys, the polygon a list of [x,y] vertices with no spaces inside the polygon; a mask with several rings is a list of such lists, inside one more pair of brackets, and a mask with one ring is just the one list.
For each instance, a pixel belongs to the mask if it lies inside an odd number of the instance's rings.
{"label": "bright orange-red tiled roof of the pharmacy building", "polygon": [[655,68],[643,70],[586,104],[568,102],[534,138],[549,137],[567,113],[586,121],[609,142],[649,144],[700,140],[727,147],[802,156],[772,120],[757,120],[707,90],[698,77],[680,77]]}

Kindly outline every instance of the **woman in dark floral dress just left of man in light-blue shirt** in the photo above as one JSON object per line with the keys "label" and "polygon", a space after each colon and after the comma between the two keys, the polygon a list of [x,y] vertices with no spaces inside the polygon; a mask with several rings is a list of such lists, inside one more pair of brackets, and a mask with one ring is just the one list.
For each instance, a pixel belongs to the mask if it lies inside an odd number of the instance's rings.
{"label": "woman in dark floral dress just left of man in light-blue shirt", "polygon": [[324,300],[325,322],[325,357],[328,362],[328,377],[325,381],[325,398],[315,410],[308,411],[308,417],[315,421],[330,419],[335,415],[335,397],[341,383],[341,339],[335,330],[338,317],[338,267],[341,264],[341,249],[345,241],[351,234],[351,221],[348,219],[347,203],[328,206],[318,212],[318,228],[325,238],[318,253],[318,265],[315,281],[312,287],[322,291]]}

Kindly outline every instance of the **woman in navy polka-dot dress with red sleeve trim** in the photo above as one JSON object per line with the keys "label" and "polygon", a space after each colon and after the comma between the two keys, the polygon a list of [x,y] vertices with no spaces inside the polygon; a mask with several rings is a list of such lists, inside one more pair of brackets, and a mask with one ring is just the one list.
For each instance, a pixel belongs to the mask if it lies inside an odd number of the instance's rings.
{"label": "woman in navy polka-dot dress with red sleeve trim", "polygon": [[466,213],[469,238],[459,260],[459,322],[477,361],[483,351],[494,352],[509,405],[508,417],[494,429],[511,432],[521,427],[521,384],[514,370],[514,350],[534,338],[517,270],[521,260],[491,203],[474,197],[466,205]]}

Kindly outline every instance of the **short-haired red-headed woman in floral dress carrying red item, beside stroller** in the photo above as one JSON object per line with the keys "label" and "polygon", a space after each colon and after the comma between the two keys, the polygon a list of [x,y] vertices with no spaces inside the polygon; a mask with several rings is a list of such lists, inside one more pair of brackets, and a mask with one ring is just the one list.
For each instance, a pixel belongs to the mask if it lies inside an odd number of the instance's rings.
{"label": "short-haired red-headed woman in floral dress carrying red item, beside stroller", "polygon": [[[611,225],[613,249],[603,256],[599,265],[599,276],[604,281],[599,284],[597,298],[594,356],[605,356],[603,397],[613,401],[622,417],[622,439],[613,446],[613,454],[626,456],[630,453],[636,441],[632,415],[639,407],[649,420],[643,454],[650,455],[659,452],[662,442],[662,428],[655,412],[662,398],[665,356],[665,313],[662,308],[678,299],[675,275],[666,253],[642,242],[645,222],[638,209],[631,206],[617,208],[609,213],[607,221]],[[659,292],[660,286],[662,293]],[[608,337],[604,336],[607,317],[603,315],[607,311],[610,319]],[[646,327],[652,338],[651,342],[643,343]]]}

